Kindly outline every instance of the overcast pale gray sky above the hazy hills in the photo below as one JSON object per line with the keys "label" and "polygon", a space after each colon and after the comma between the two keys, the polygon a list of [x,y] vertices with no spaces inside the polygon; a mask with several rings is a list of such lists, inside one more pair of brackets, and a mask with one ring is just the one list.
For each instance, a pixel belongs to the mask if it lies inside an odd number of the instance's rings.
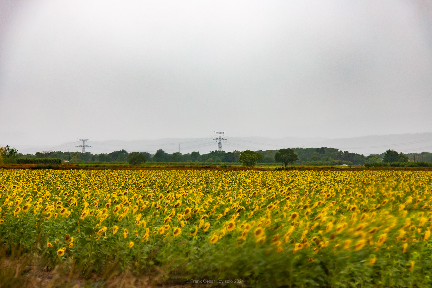
{"label": "overcast pale gray sky above the hazy hills", "polygon": [[431,0],[0,1],[0,146],[432,132],[431,79]]}

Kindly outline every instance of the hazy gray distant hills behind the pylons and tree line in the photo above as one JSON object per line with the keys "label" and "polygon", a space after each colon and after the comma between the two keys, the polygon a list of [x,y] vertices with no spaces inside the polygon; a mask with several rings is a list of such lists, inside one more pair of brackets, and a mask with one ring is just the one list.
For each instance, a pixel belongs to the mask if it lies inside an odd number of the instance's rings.
{"label": "hazy gray distant hills behind the pylons and tree line", "polygon": [[[178,152],[180,144],[181,153],[198,151],[201,154],[217,150],[218,143],[213,140],[217,136],[207,138],[166,138],[155,140],[97,140],[91,139],[87,142],[91,148],[87,151],[96,153],[112,152],[125,149],[128,152],[142,151],[154,154],[157,149],[164,149],[167,153]],[[224,136],[227,139],[222,143],[222,149],[226,152],[233,150],[270,150],[282,148],[314,148],[314,147],[333,147],[343,151],[359,153],[363,155],[381,154],[388,149],[398,152],[432,152],[432,133],[415,134],[391,134],[391,135],[372,135],[354,138],[301,138],[284,137],[279,139],[266,137],[232,137],[229,133]],[[81,142],[70,141],[58,146],[29,146],[15,145],[20,153],[26,154],[41,152],[43,150],[54,151],[81,151],[75,146]]]}

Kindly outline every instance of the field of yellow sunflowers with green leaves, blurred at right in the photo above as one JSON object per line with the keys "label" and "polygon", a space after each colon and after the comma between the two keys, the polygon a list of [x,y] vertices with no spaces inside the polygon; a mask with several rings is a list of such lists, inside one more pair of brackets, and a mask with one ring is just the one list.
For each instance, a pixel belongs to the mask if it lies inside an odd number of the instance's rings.
{"label": "field of yellow sunflowers with green leaves, blurred at right", "polygon": [[425,287],[431,196],[431,171],[0,170],[0,244],[83,277]]}

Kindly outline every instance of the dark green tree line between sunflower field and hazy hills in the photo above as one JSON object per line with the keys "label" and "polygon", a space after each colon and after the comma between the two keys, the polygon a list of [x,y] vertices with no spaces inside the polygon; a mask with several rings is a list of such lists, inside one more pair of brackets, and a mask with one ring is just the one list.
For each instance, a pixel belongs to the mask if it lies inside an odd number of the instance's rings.
{"label": "dark green tree line between sunflower field and hazy hills", "polygon": [[[251,150],[246,150],[251,151]],[[241,155],[243,153],[243,158]],[[249,154],[248,154],[249,153]],[[364,156],[362,154],[338,150],[336,148],[294,148],[280,150],[258,150],[253,153],[245,151],[211,151],[205,154],[200,152],[191,152],[182,154],[179,152],[167,153],[159,149],[155,154],[148,152],[127,152],[124,149],[111,153],[92,154],[90,152],[62,152],[62,151],[42,151],[33,154],[21,154],[15,148],[9,146],[0,147],[0,164],[16,163],[18,158],[58,158],[63,161],[73,163],[79,162],[129,162],[138,164],[146,161],[151,162],[195,162],[195,163],[245,163],[245,158],[254,158],[255,163],[289,163],[305,165],[365,165],[381,162],[405,162],[405,161],[432,161],[432,153],[410,153],[403,154],[394,150],[388,150],[382,154],[371,154]],[[248,155],[248,156],[246,156]],[[289,158],[287,155],[291,155]],[[297,157],[294,160],[294,155]],[[287,158],[288,157],[288,158]],[[284,160],[285,159],[285,160]]]}

